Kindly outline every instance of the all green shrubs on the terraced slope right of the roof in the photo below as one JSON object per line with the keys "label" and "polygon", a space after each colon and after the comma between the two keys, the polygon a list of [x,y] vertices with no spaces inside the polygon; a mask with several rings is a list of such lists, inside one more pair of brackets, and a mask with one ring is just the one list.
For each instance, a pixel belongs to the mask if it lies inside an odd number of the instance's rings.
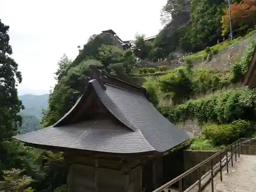
{"label": "all green shrubs on the terraced slope right of the roof", "polygon": [[[168,72],[157,81],[149,79],[144,83],[152,100],[171,122],[198,120],[203,137],[194,140],[191,148],[216,149],[240,137],[250,137],[256,132],[255,89],[240,88],[193,99],[198,93],[220,90],[228,84],[242,81],[255,49],[254,40],[247,46],[240,60],[234,62],[231,70],[225,73],[191,69],[187,65]],[[174,104],[159,105],[160,95],[169,96]]]}

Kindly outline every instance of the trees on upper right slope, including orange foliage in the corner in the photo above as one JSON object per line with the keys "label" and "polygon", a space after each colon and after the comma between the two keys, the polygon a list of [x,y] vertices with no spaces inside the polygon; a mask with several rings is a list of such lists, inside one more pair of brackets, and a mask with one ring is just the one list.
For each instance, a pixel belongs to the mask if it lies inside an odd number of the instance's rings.
{"label": "trees on upper right slope, including orange foliage in the corner", "polygon": [[153,44],[143,42],[143,36],[135,40],[136,47],[144,52],[141,58],[152,61],[169,59],[177,49],[186,53],[199,52],[190,58],[206,58],[209,52],[202,51],[206,47],[214,46],[212,50],[216,54],[246,34],[250,36],[255,29],[256,0],[231,2],[233,36],[238,38],[222,43],[229,39],[229,11],[225,0],[168,0],[162,12],[166,26],[157,34]]}

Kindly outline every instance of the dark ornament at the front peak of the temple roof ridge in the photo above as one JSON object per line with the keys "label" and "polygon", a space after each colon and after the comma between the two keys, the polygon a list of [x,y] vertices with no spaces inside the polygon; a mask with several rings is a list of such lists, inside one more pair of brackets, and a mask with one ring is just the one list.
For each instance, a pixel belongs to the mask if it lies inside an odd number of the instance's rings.
{"label": "dark ornament at the front peak of the temple roof ridge", "polygon": [[86,77],[86,84],[88,84],[90,80],[96,79],[100,84],[101,88],[103,90],[106,90],[105,81],[107,77],[105,75],[102,75],[101,70],[97,69],[95,66],[90,66],[90,69],[90,76]]}

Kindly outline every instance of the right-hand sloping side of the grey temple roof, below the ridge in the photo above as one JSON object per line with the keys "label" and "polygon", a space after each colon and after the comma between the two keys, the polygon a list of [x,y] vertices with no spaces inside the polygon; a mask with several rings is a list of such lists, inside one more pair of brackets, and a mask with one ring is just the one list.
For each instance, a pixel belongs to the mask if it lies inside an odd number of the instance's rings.
{"label": "right-hand sloping side of the grey temple roof, below the ridge", "polygon": [[189,139],[185,130],[164,118],[145,96],[108,85],[104,91],[97,81],[94,87],[106,108],[130,129],[141,131],[156,151],[165,152]]}

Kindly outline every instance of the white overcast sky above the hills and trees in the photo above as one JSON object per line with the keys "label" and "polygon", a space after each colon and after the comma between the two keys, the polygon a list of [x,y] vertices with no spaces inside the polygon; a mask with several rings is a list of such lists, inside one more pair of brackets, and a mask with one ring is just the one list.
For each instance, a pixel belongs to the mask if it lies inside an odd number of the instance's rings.
{"label": "white overcast sky above the hills and trees", "polygon": [[123,40],[136,32],[156,35],[166,1],[0,0],[0,18],[10,26],[12,57],[23,76],[19,95],[49,93],[62,54],[75,59],[77,46],[102,30],[113,29]]}

